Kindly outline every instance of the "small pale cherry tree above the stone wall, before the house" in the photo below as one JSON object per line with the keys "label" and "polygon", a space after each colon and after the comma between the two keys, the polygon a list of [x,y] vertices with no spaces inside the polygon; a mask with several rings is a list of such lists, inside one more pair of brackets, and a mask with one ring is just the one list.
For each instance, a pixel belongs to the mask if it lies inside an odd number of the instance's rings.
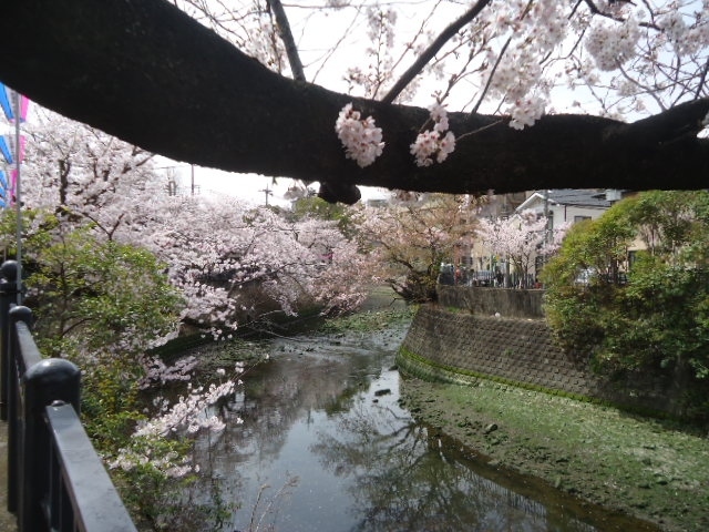
{"label": "small pale cherry tree above the stone wall, before the house", "polygon": [[549,229],[546,216],[524,211],[508,218],[481,218],[475,234],[491,253],[514,265],[518,287],[528,288],[534,260],[556,253],[566,231],[568,224]]}

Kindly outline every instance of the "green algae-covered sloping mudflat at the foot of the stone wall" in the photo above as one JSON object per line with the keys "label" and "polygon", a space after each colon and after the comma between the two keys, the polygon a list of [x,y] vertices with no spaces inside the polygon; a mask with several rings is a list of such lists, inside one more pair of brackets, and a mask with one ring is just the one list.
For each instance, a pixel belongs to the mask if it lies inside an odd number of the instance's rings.
{"label": "green algae-covered sloping mudflat at the foot of the stone wall", "polygon": [[492,381],[402,379],[404,406],[499,468],[668,532],[709,530],[709,439],[668,422]]}

